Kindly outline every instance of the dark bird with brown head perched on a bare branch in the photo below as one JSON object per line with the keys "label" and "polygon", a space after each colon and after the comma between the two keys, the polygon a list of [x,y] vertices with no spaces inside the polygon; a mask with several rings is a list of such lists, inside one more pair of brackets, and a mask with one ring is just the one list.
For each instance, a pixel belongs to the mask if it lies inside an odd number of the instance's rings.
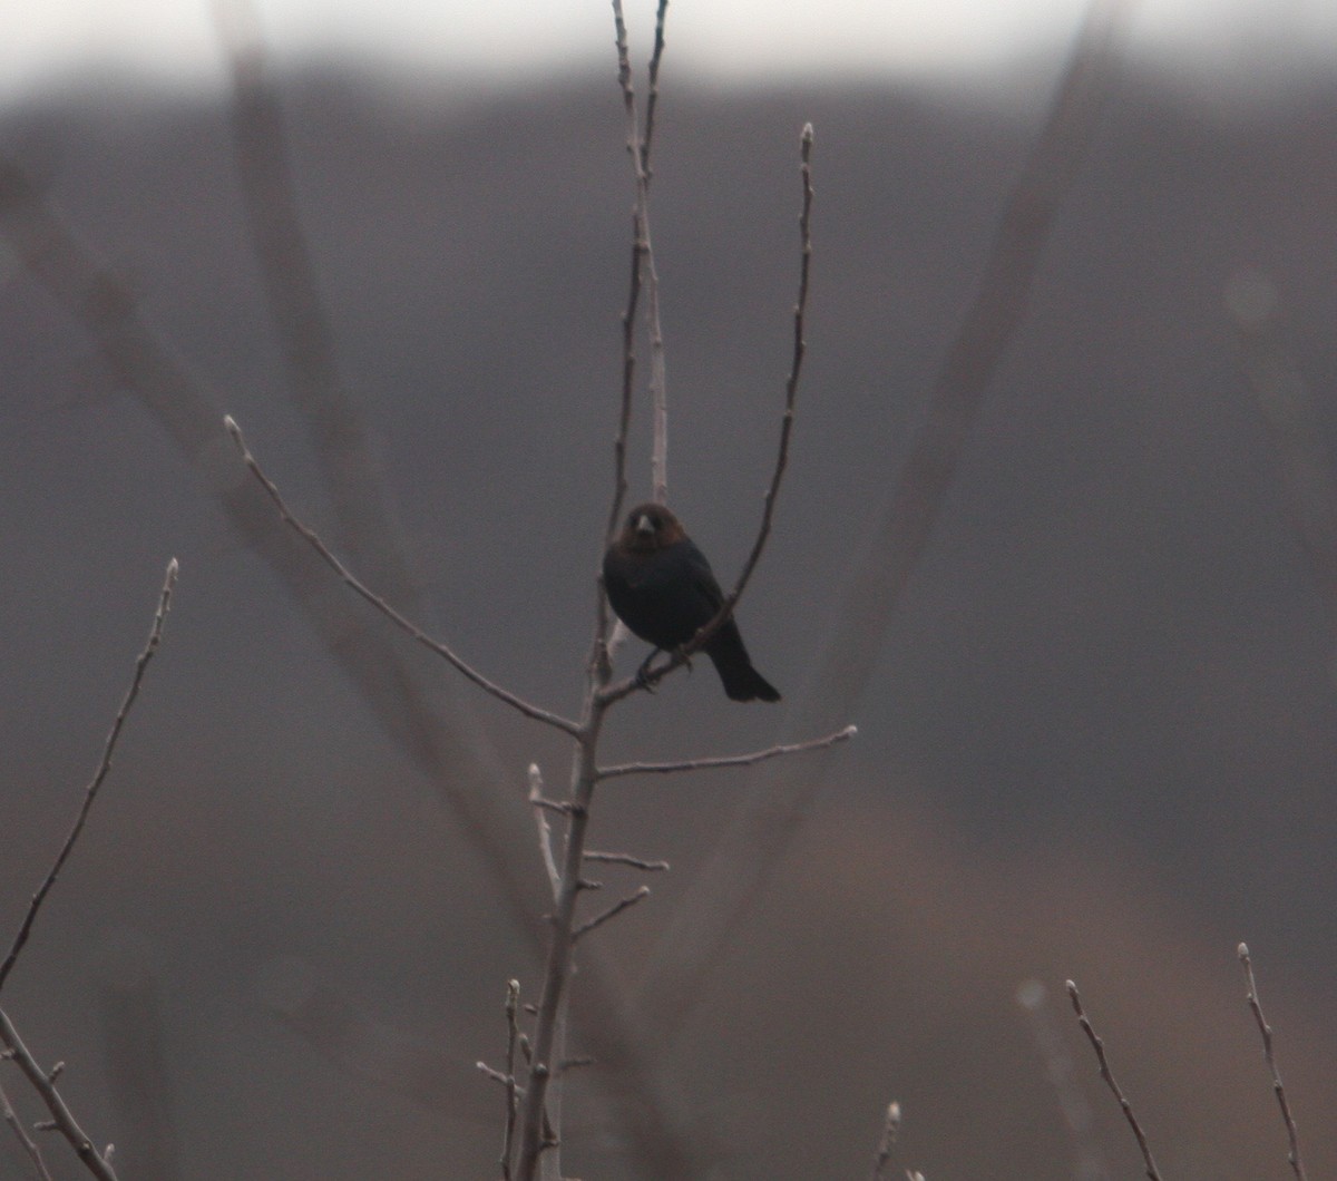
{"label": "dark bird with brown head perched on a bare branch", "polygon": [[[639,504],[627,515],[603,555],[603,586],[618,618],[655,651],[682,647],[725,602],[706,555],[662,504]],[[779,701],[779,691],[753,667],[733,617],[719,625],[702,651],[734,701]]]}

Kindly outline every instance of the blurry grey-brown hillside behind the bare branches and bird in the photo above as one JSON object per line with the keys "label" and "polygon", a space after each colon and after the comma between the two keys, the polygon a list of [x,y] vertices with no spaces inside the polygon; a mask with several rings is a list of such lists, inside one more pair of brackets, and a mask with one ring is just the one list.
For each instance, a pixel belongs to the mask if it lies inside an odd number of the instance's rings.
{"label": "blurry grey-brown hillside behind the bare branches and bird", "polygon": [[[483,100],[308,76],[285,115],[342,376],[429,622],[571,710],[619,381],[619,98],[610,83]],[[660,118],[670,486],[726,579],[773,460],[797,134],[817,128],[796,449],[741,611],[758,667],[798,700],[1039,115],[832,87],[670,88]],[[1334,142],[1337,86],[1250,106],[1122,79],[935,546],[869,638],[880,674],[856,717],[832,718],[860,738],[664,1055],[701,1136],[731,1146],[718,1176],[862,1176],[892,1098],[906,1164],[931,1178],[1075,1176],[1013,999],[1031,978],[1054,998],[1108,1176],[1135,1174],[1062,998],[1072,976],[1167,1176],[1281,1177],[1239,939],[1310,1172],[1337,1170],[1337,614],[1225,302],[1241,276],[1275,290],[1312,399],[1306,441],[1337,461]],[[0,147],[134,284],[290,500],[329,520],[226,114],[90,92],[13,112]],[[529,944],[436,786],[193,465],[41,284],[8,255],[0,267],[3,932],[96,762],[162,567],[182,562],[166,647],[7,1007],[70,1062],[67,1094],[127,1176],[491,1176],[501,1102],[473,1062],[500,1053],[505,980],[536,988]],[[638,463],[646,451],[638,437]],[[717,690],[706,669],[677,677],[622,710],[610,742],[673,757],[806,737]],[[472,705],[521,817],[527,765],[560,778],[566,753]],[[610,788],[600,843],[675,868],[600,936],[628,988],[742,782]],[[513,857],[537,909],[532,843]],[[275,1016],[312,988],[369,1022],[357,1063]],[[151,1165],[140,1144],[136,1166],[136,1085],[112,1102],[126,996],[150,1011],[168,1087]],[[421,1077],[386,1078],[382,1053]],[[586,1122],[568,1169],[624,1176],[588,1091],[571,1098]],[[0,1176],[19,1168],[0,1137]]]}

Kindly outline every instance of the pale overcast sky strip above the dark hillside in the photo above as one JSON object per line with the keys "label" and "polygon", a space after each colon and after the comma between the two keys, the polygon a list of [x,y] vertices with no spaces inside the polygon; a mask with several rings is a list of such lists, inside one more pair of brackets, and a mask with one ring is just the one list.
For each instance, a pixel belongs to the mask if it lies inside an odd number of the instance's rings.
{"label": "pale overcast sky strip above the dark hillside", "polygon": [[[221,78],[215,4],[3,0],[0,99],[91,68],[172,83]],[[644,56],[654,0],[624,0]],[[338,53],[504,80],[607,64],[608,0],[253,0],[282,56]],[[671,64],[715,80],[988,71],[1062,45],[1083,0],[673,0]],[[1337,62],[1337,0],[1140,0],[1135,40],[1209,71]]]}

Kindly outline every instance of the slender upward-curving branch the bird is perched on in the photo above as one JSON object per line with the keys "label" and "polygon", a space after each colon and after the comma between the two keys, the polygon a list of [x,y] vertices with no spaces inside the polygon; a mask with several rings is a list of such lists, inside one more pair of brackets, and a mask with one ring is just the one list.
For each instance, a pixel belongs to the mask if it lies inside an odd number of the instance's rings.
{"label": "slender upward-curving branch the bird is perched on", "polygon": [[600,690],[599,695],[604,704],[611,704],[627,697],[638,689],[652,687],[674,669],[682,667],[694,653],[699,651],[710,641],[710,637],[719,630],[725,619],[733,614],[738,599],[742,598],[742,593],[751,579],[753,571],[757,568],[757,563],[761,560],[762,550],[766,548],[766,540],[770,538],[771,518],[775,512],[775,498],[779,492],[779,484],[785,477],[785,469],[789,467],[789,441],[794,429],[794,407],[798,399],[798,377],[802,372],[804,354],[808,350],[808,341],[804,336],[804,324],[808,314],[808,280],[813,257],[813,124],[804,124],[804,132],[800,136],[798,167],[804,190],[802,210],[798,215],[801,258],[798,269],[798,297],[794,301],[793,354],[790,357],[789,377],[785,381],[785,413],[781,419],[775,467],[771,472],[770,486],[766,488],[766,495],[762,502],[762,515],[761,524],[757,530],[757,540],[753,542],[751,552],[743,563],[742,572],[738,575],[734,588],[725,597],[725,601],[715,613],[714,618],[711,618],[690,641],[687,641],[687,643],[678,649],[678,651],[675,651],[656,669],[647,670],[644,675],[628,677],[616,685],[611,685]]}

